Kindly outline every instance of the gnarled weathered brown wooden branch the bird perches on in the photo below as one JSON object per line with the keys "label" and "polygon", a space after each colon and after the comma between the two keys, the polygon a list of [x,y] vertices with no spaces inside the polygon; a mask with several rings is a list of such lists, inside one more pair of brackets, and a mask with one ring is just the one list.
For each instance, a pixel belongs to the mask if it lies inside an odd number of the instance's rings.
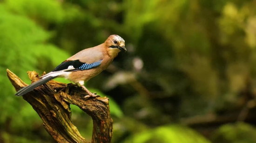
{"label": "gnarled weathered brown wooden branch the bird perches on", "polygon": [[[35,71],[28,71],[27,74],[32,83],[39,80],[39,75]],[[21,81],[17,75],[8,69],[7,76],[16,91],[27,86],[25,82]],[[44,128],[58,143],[88,143],[81,137],[71,121],[69,104],[80,107],[81,110],[92,117],[92,143],[110,143],[113,134],[113,120],[110,118],[109,99],[107,97],[97,97],[85,100],[85,95],[87,93],[80,87],[49,81],[23,95],[23,99],[38,113],[43,120]]]}

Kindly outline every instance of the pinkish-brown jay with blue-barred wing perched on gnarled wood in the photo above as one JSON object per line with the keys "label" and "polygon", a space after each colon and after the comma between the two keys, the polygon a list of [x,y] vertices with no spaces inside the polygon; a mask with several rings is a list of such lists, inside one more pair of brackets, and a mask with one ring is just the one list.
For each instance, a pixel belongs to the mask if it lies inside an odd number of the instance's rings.
{"label": "pinkish-brown jay with blue-barred wing perched on gnarled wood", "polygon": [[81,50],[67,58],[51,72],[42,75],[38,81],[21,88],[15,95],[22,96],[50,80],[64,77],[81,86],[88,93],[85,98],[98,97],[99,95],[91,93],[84,86],[84,82],[108,68],[120,51],[127,51],[124,39],[118,35],[110,35],[103,44]]}

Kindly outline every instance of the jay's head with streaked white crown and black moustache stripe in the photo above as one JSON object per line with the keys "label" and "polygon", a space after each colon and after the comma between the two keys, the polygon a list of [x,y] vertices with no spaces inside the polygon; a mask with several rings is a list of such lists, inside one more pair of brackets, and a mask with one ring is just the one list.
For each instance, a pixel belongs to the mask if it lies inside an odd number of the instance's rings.
{"label": "jay's head with streaked white crown and black moustache stripe", "polygon": [[120,51],[126,52],[124,39],[118,35],[110,35],[106,40],[106,44],[109,54],[113,56],[116,56]]}

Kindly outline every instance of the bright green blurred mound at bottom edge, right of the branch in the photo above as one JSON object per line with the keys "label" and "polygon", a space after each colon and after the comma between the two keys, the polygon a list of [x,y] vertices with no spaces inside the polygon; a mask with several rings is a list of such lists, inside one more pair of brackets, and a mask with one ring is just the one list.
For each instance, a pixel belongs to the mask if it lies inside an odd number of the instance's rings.
{"label": "bright green blurred mound at bottom edge, right of the branch", "polygon": [[144,131],[124,143],[210,143],[202,135],[181,125],[166,125]]}

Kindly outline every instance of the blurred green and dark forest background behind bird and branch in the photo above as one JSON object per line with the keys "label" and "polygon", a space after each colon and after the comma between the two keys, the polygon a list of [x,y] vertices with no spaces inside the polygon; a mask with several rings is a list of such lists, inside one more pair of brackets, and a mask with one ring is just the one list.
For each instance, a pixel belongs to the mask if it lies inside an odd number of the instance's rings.
{"label": "blurred green and dark forest background behind bird and branch", "polygon": [[86,86],[110,98],[112,143],[256,143],[256,0],[0,0],[0,143],[54,143],[7,68],[29,84],[111,34],[128,52]]}

